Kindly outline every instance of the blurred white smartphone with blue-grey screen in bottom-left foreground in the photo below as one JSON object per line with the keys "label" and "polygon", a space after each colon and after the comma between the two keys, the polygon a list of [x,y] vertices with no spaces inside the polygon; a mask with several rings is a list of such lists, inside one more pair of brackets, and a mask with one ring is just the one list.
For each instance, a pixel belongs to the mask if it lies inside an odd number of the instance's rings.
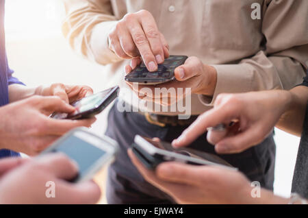
{"label": "blurred white smartphone with blue-grey screen in bottom-left foreground", "polygon": [[40,155],[62,152],[77,162],[78,175],[70,182],[90,180],[104,165],[112,162],[118,152],[118,143],[107,136],[97,136],[86,128],[75,128]]}

